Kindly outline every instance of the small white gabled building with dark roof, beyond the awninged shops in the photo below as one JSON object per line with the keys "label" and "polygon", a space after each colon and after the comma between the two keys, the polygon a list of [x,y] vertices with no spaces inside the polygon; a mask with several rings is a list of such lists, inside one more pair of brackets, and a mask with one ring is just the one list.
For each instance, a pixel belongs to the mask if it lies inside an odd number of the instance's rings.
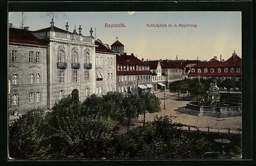
{"label": "small white gabled building with dark roof, beyond the awninged shops", "polygon": [[166,89],[166,74],[162,70],[161,60],[145,61],[145,64],[150,66],[152,72],[153,90]]}

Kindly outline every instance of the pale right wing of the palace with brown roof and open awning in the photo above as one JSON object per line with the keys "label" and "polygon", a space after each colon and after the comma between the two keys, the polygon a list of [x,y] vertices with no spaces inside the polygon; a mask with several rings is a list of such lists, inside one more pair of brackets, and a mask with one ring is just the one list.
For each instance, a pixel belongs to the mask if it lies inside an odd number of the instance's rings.
{"label": "pale right wing of the palace with brown roof and open awning", "polygon": [[116,91],[116,52],[99,39],[95,40],[95,44],[96,94]]}

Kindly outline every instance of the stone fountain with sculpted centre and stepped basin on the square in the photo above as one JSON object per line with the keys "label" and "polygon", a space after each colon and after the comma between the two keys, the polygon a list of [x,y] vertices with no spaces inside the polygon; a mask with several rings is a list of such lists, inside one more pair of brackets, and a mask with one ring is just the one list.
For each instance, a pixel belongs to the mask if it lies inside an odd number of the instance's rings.
{"label": "stone fountain with sculpted centre and stepped basin on the square", "polygon": [[220,101],[220,90],[217,81],[210,83],[210,88],[206,95],[201,96],[199,102],[189,102],[185,107],[180,107],[176,111],[196,115],[230,117],[242,115],[239,104],[224,104]]}

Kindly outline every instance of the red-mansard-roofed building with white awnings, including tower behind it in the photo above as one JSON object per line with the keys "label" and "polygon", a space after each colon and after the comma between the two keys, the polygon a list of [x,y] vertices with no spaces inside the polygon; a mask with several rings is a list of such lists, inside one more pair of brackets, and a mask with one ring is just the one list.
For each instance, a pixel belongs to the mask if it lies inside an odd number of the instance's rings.
{"label": "red-mansard-roofed building with white awnings, including tower behind it", "polygon": [[[118,40],[111,45],[112,50],[123,45]],[[139,60],[132,53],[127,55],[123,53],[124,46],[120,46],[120,50],[116,50],[119,55],[116,56],[117,69],[117,91],[119,92],[135,92],[152,91],[153,85],[151,82],[152,73],[150,67],[143,60]],[[123,53],[123,54],[122,54]]]}

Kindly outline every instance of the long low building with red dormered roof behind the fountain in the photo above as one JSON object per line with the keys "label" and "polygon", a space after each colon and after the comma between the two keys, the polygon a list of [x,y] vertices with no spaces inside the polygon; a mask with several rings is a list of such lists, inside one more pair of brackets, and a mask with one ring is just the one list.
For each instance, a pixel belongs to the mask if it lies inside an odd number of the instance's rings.
{"label": "long low building with red dormered roof behind the fountain", "polygon": [[242,76],[242,59],[234,52],[226,61],[218,60],[217,57],[209,61],[200,61],[190,68],[188,78],[208,79],[216,78],[218,80],[233,79],[239,81]]}

